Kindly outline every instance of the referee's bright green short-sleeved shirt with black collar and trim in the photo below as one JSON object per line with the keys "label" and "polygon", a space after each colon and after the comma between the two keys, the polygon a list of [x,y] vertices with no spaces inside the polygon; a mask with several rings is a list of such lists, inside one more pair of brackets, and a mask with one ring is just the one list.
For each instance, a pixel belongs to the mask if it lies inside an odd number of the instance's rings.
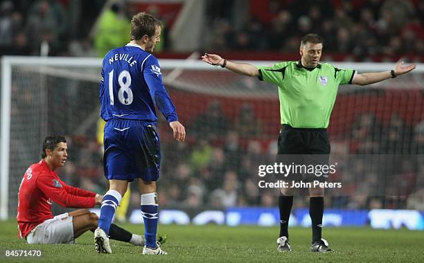
{"label": "referee's bright green short-sleeved shirt with black collar and trim", "polygon": [[353,69],[323,63],[315,69],[300,61],[258,66],[259,79],[279,87],[281,124],[295,128],[326,128],[339,85],[352,84]]}

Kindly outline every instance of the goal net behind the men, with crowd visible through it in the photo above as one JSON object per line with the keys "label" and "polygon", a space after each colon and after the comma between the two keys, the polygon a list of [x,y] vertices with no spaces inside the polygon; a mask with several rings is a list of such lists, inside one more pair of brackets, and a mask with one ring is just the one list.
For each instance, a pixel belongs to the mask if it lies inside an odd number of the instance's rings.
{"label": "goal net behind the men, with crowd visible through it", "polygon": [[[200,61],[159,63],[187,131],[186,142],[177,143],[164,118],[159,120],[161,206],[276,206],[275,192],[260,192],[255,181],[258,165],[276,154],[280,129],[276,87]],[[99,118],[100,65],[101,60],[91,58],[3,57],[1,219],[15,217],[19,183],[28,165],[39,161],[48,134],[67,138],[68,161],[58,170],[64,181],[95,192],[107,190]],[[335,65],[360,73],[393,67]],[[344,185],[333,192],[328,206],[414,205],[409,200],[424,187],[424,161],[419,155],[424,153],[423,69],[420,64],[413,73],[393,80],[339,88],[328,133],[332,158],[348,159],[349,165],[339,165],[335,180]],[[139,206],[138,197],[130,200],[130,206]]]}

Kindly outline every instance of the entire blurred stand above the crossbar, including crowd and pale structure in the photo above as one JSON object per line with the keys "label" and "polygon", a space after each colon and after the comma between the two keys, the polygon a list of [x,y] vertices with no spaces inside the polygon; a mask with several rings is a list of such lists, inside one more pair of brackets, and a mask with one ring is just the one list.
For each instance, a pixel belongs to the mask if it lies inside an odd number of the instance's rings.
{"label": "entire blurred stand above the crossbar, including crowd and pale structure", "polygon": [[325,39],[324,60],[423,60],[419,0],[2,0],[1,55],[103,57],[127,43],[130,18],[141,11],[164,24],[158,57],[225,51],[297,60],[301,37],[314,32]]}

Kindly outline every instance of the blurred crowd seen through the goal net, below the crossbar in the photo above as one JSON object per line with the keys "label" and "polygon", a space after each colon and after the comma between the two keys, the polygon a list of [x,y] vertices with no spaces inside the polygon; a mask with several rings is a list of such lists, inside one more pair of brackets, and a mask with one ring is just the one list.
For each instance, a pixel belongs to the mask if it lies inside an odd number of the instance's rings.
{"label": "blurred crowd seen through the goal net, below the crossbar", "polygon": [[[211,107],[219,107],[218,102],[212,102]],[[165,120],[160,123],[161,136],[165,137],[163,143],[166,143],[161,167],[161,178],[166,178],[166,183],[159,188],[161,205],[193,209],[276,206],[277,193],[259,192],[257,187],[258,165],[274,162],[276,141],[270,141],[269,147],[264,149],[257,139],[260,136],[249,136],[250,132],[260,132],[260,120],[250,119],[252,125],[240,127],[245,117],[239,116],[233,121],[219,109],[217,112],[212,123],[211,112],[204,113],[207,117],[200,114],[192,123],[187,123],[187,143],[166,140],[168,124]],[[391,118],[389,125],[382,125],[372,114],[358,114],[346,140],[333,140],[333,158],[339,163],[350,163],[348,167],[339,166],[336,174],[330,176],[330,181],[342,181],[343,187],[329,190],[326,197],[329,207],[423,208],[423,192],[416,190],[424,185],[424,181],[420,181],[424,162],[420,155],[413,154],[424,154],[424,122],[407,127],[396,114]],[[82,188],[101,192],[106,181],[100,145],[94,139],[89,143],[85,139],[70,140],[70,149],[82,147],[82,150],[70,154],[64,175],[79,181]],[[371,160],[369,154],[389,157],[379,162]],[[387,197],[389,195],[393,197]],[[138,206],[138,198],[138,194],[132,197],[134,208]],[[297,206],[303,207],[308,196],[301,194],[294,200]]]}

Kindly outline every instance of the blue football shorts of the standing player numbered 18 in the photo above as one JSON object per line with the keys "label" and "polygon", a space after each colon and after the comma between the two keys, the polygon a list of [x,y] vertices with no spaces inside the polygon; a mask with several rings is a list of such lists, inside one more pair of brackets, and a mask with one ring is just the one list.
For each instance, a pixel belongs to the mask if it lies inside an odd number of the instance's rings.
{"label": "blue football shorts of the standing player numbered 18", "polygon": [[157,181],[159,178],[161,149],[154,123],[108,120],[103,143],[103,165],[108,180]]}

